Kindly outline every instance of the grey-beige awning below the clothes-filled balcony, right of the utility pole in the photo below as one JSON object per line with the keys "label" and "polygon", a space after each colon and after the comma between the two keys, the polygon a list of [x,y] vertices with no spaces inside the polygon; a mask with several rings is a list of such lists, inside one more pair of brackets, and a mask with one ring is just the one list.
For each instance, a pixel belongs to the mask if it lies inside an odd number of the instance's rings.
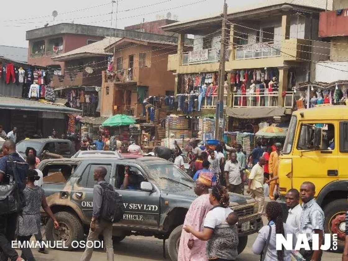
{"label": "grey-beige awning below the clothes-filled balcony, right of the utility pole", "polygon": [[239,119],[258,119],[284,115],[282,107],[226,108],[226,114]]}

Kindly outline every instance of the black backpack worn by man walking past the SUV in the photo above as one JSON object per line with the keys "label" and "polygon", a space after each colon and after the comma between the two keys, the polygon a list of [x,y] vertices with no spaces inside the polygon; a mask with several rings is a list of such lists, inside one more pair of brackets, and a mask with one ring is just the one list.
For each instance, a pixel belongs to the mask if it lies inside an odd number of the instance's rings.
{"label": "black backpack worn by man walking past the SUV", "polygon": [[108,183],[99,184],[103,189],[103,203],[100,217],[109,222],[120,222],[125,213],[122,196]]}

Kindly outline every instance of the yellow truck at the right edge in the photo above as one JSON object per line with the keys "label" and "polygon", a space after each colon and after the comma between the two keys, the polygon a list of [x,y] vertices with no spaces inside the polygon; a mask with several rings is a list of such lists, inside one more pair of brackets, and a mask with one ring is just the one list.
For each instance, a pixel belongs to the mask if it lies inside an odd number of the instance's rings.
{"label": "yellow truck at the right edge", "polygon": [[348,211],[348,106],[321,105],[293,112],[279,162],[279,190],[311,181],[325,213],[325,233],[343,251]]}

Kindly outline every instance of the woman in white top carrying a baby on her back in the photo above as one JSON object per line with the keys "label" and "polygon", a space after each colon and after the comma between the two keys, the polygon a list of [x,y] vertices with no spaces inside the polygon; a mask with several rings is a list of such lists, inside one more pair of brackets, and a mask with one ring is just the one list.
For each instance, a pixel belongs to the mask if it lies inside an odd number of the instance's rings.
{"label": "woman in white top carrying a baby on her back", "polygon": [[207,240],[207,257],[214,261],[235,260],[238,246],[238,216],[229,208],[227,188],[216,185],[209,194],[213,208],[207,213],[203,231],[184,226],[187,233],[200,240]]}

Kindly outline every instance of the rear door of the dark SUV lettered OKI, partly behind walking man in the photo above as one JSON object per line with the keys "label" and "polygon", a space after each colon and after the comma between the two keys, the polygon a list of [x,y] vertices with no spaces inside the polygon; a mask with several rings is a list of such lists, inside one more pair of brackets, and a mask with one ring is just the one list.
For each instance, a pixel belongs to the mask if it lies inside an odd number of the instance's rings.
{"label": "rear door of the dark SUV lettered OKI, partly behind walking man", "polygon": [[93,187],[96,183],[93,178],[93,172],[98,167],[106,168],[108,173],[105,176],[105,180],[109,182],[112,164],[89,162],[77,181],[76,187],[74,186],[71,191],[71,201],[80,207],[82,213],[88,220],[92,219],[93,214]]}

